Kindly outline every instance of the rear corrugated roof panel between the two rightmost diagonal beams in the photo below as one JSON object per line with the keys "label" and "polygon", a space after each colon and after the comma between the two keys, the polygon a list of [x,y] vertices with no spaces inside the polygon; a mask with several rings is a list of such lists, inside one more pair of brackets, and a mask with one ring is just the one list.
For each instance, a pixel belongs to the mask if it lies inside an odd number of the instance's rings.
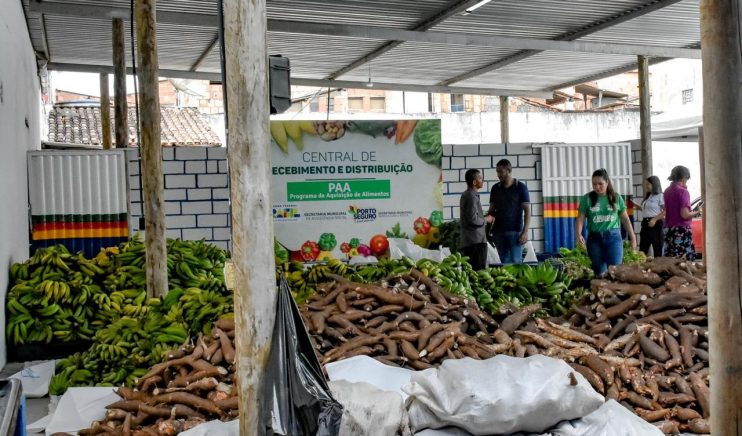
{"label": "rear corrugated roof panel between the two rightmost diagonal beams", "polygon": [[538,90],[631,62],[636,62],[636,56],[545,51],[455,85]]}

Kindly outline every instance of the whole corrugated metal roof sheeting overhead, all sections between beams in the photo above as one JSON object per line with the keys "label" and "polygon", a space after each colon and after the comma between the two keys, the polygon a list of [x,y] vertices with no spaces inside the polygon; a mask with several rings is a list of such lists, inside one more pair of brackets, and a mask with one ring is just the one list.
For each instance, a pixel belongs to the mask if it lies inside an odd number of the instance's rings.
{"label": "whole corrugated metal roof sheeting overhead, all sections between beams", "polygon": [[[28,8],[28,0],[22,0]],[[112,6],[128,9],[129,0],[44,0],[70,6]],[[555,38],[596,22],[615,19],[652,0],[494,0],[470,15],[457,14],[433,31]],[[270,0],[268,18],[320,23],[365,24],[412,28],[420,21],[456,4],[457,0]],[[697,43],[699,0],[683,0],[588,37],[585,41],[653,44],[682,47]],[[214,16],[214,0],[158,0],[158,11]],[[43,51],[43,28],[38,14],[27,11],[32,42]],[[111,64],[110,20],[46,15],[51,61],[71,64]],[[128,23],[127,23],[128,33]],[[188,70],[213,41],[216,29],[207,26],[158,25],[158,51],[163,69]],[[324,78],[382,46],[384,41],[320,35],[270,33],[269,52],[291,58],[295,77]],[[128,46],[130,47],[130,45]],[[130,49],[129,49],[130,50]],[[485,66],[516,51],[492,47],[407,42],[372,61],[372,80],[436,84]],[[127,55],[127,60],[131,56]],[[536,90],[635,62],[634,56],[542,52],[455,86]],[[219,71],[219,51],[213,50],[199,71]],[[367,80],[364,66],[341,77]]]}

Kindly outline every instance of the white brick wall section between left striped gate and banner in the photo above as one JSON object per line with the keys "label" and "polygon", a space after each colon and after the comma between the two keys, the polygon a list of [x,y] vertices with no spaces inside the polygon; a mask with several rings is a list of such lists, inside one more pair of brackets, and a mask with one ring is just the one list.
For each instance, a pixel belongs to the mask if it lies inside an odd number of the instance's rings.
{"label": "white brick wall section between left striped gate and banner", "polygon": [[[181,147],[162,149],[165,177],[166,236],[206,239],[230,248],[227,149]],[[139,229],[142,200],[139,150],[129,154],[130,228]]]}

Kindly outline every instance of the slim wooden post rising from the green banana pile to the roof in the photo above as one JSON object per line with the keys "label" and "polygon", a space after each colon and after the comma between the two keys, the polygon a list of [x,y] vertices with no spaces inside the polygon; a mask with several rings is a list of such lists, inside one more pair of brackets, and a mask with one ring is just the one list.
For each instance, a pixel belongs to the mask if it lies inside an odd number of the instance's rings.
{"label": "slim wooden post rising from the green banana pile to the roof", "polygon": [[162,140],[160,139],[160,88],[157,72],[156,0],[136,0],[140,111],[144,203],[144,244],[147,266],[147,295],[167,294],[167,249],[165,246],[165,192],[162,178]]}

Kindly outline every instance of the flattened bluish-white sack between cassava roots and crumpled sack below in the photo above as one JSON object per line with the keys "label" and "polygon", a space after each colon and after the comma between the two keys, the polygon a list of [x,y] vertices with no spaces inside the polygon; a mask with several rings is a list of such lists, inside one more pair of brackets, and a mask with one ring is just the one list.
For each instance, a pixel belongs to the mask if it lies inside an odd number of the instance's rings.
{"label": "flattened bluish-white sack between cassava roots and crumpled sack below", "polygon": [[325,365],[327,378],[331,381],[346,380],[349,382],[364,382],[375,386],[382,391],[397,392],[402,400],[407,394],[402,386],[410,382],[415,371],[385,365],[368,356],[354,356]]}

